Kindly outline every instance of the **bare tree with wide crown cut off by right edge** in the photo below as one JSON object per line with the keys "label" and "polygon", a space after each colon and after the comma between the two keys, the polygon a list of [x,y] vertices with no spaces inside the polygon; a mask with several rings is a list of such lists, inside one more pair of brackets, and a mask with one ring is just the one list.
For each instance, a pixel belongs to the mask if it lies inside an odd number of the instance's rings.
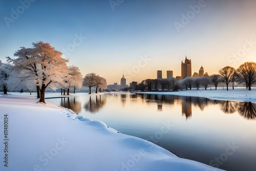
{"label": "bare tree with wide crown cut off by right edge", "polygon": [[245,82],[251,90],[251,85],[256,81],[256,63],[245,62],[237,69],[239,77]]}

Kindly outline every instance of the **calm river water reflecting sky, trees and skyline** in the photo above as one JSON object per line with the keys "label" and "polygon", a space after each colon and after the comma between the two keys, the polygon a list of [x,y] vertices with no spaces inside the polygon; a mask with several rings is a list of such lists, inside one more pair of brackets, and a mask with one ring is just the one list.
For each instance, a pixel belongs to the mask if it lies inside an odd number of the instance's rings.
{"label": "calm river water reflecting sky, trees and skyline", "polygon": [[256,103],[109,93],[47,99],[182,158],[225,170],[256,170]]}

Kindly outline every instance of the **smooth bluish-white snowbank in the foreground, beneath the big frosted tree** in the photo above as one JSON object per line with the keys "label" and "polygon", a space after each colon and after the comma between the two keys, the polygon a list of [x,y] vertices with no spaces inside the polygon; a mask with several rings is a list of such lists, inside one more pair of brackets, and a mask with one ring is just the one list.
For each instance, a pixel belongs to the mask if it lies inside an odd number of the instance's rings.
{"label": "smooth bluish-white snowbank in the foreground, beneath the big frosted tree", "polygon": [[[0,95],[0,139],[7,144],[0,146],[0,170],[221,170],[179,158],[156,144],[121,134],[53,103],[36,101],[26,93]],[[4,166],[5,155],[8,167]]]}

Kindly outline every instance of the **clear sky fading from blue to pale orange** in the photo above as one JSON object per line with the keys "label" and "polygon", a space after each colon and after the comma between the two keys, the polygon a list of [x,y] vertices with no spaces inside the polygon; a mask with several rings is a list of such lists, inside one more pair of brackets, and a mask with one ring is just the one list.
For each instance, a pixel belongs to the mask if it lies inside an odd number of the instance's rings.
{"label": "clear sky fading from blue to pale orange", "polygon": [[0,0],[0,60],[32,42],[49,42],[82,75],[108,84],[181,75],[191,59],[209,75],[256,61],[256,1]]}

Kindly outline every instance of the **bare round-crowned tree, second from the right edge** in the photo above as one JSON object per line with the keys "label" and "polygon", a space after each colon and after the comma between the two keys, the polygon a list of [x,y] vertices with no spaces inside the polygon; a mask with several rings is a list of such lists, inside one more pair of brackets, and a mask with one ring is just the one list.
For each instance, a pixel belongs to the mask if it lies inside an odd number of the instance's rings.
{"label": "bare round-crowned tree, second from the right edge", "polygon": [[224,84],[226,84],[227,86],[227,90],[228,90],[228,84],[229,82],[231,82],[234,77],[236,76],[236,69],[234,69],[233,67],[224,67],[222,68],[220,71],[220,76],[222,78],[222,82],[224,82]]}

